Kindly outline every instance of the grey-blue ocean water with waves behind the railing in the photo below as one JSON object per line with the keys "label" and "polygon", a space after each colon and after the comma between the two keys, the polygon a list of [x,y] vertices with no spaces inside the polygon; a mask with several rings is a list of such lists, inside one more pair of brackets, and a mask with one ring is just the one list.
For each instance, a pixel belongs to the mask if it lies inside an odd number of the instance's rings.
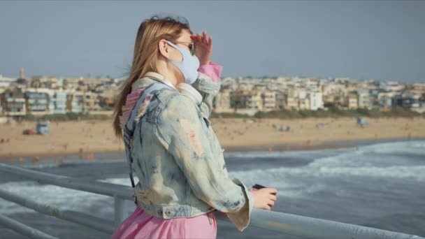
{"label": "grey-blue ocean water with waves behind the railing", "polygon": [[[127,164],[119,155],[91,163],[28,166],[46,173],[130,185]],[[99,157],[99,156],[98,156]],[[100,156],[102,157],[102,155]],[[247,186],[278,189],[274,211],[330,219],[425,237],[425,140],[405,140],[338,150],[225,153],[230,178]],[[137,180],[136,180],[137,181]],[[0,187],[38,203],[53,203],[113,219],[113,199],[73,189],[39,184],[1,174]],[[85,226],[55,219],[0,199],[0,212],[59,238],[109,238]],[[218,222],[217,238],[296,238],[248,226],[237,231]],[[0,225],[0,238],[24,238]]]}

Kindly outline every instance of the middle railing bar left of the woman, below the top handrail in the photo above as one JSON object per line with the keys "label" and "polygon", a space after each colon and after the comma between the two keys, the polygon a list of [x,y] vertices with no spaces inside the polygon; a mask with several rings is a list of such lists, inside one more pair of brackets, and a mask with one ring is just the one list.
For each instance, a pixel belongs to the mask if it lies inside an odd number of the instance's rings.
{"label": "middle railing bar left of the woman, below the top handrail", "polygon": [[101,219],[99,217],[87,215],[82,212],[61,210],[58,205],[52,205],[50,203],[35,203],[27,198],[18,196],[3,189],[0,189],[0,198],[5,199],[6,201],[20,204],[25,208],[31,208],[32,210],[36,210],[37,212],[41,212],[45,215],[64,219],[69,222],[75,222],[76,224],[89,226],[92,229],[103,231],[105,233],[113,233],[114,222],[112,220]]}

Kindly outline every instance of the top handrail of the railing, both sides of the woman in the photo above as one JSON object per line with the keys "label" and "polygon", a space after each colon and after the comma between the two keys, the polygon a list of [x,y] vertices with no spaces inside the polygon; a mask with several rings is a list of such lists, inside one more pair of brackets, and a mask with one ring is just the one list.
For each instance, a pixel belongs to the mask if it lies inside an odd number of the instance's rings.
{"label": "top handrail of the railing, both sides of the woman", "polygon": [[[39,180],[47,184],[55,184],[60,187],[88,191],[94,194],[103,194],[107,196],[117,196],[130,200],[132,189],[129,186],[110,184],[106,182],[87,182],[77,180],[62,175],[52,175],[38,171],[9,166],[0,163],[0,171],[6,173],[15,173],[25,178]],[[222,212],[216,214],[217,219],[226,220],[229,218]],[[263,229],[287,233],[294,236],[305,238],[386,238],[386,239],[419,239],[422,237],[397,233],[394,231],[385,231],[382,229],[373,229],[366,226],[345,224],[342,222],[333,222],[325,219],[312,217],[303,217],[291,215],[283,212],[273,212],[268,210],[259,210],[253,208],[250,219],[251,226],[257,226]],[[422,238],[425,239],[425,238]]]}

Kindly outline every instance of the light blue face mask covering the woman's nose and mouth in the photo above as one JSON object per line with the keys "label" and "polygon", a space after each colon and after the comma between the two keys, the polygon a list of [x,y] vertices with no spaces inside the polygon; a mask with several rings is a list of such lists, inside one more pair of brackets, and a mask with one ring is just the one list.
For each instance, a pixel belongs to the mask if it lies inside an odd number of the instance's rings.
{"label": "light blue face mask covering the woman's nose and mouth", "polygon": [[168,58],[171,63],[173,63],[185,76],[185,83],[191,85],[198,78],[198,68],[199,68],[199,59],[195,55],[192,56],[190,51],[185,48],[180,48],[178,45],[175,45],[171,41],[167,41],[168,44],[172,45],[173,48],[177,49],[182,53],[182,61],[174,61],[171,58]]}

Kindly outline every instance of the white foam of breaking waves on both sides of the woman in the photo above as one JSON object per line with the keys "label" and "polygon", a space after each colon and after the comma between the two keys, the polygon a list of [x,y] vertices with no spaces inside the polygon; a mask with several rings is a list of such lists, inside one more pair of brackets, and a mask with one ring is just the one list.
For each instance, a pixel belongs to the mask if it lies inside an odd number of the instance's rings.
{"label": "white foam of breaking waves on both sides of the woman", "polygon": [[[296,152],[262,152],[247,154],[234,154],[238,157],[282,157],[288,153],[297,155]],[[301,153],[301,152],[300,152]],[[312,154],[314,152],[302,152]],[[364,147],[345,149],[335,156],[316,158],[310,164],[299,167],[275,166],[267,169],[254,169],[249,171],[229,171],[230,178],[239,178],[247,187],[252,184],[264,184],[268,187],[276,187],[280,196],[299,198],[307,194],[329,189],[326,179],[338,180],[350,177],[380,178],[380,179],[403,179],[415,180],[422,184],[425,182],[425,164],[417,165],[391,165],[386,161],[386,155],[424,155],[425,141],[408,141],[398,143],[380,143]],[[261,158],[260,157],[260,158]],[[403,156],[400,156],[403,158]],[[420,157],[419,157],[420,158]],[[259,159],[261,160],[261,159]],[[387,164],[380,164],[380,162]],[[315,183],[308,183],[305,179],[315,180]],[[113,184],[130,186],[130,180],[125,178],[107,178],[99,180]],[[138,179],[135,178],[137,182]],[[84,191],[65,189],[62,187],[38,184],[34,181],[6,182],[0,184],[1,189],[19,194],[37,203],[50,203],[60,205],[62,209],[72,209],[85,211],[99,206],[99,211],[103,215],[113,213],[113,199],[109,196],[91,194]],[[0,199],[0,211],[10,215],[16,212],[29,212],[31,210],[15,203]]]}

